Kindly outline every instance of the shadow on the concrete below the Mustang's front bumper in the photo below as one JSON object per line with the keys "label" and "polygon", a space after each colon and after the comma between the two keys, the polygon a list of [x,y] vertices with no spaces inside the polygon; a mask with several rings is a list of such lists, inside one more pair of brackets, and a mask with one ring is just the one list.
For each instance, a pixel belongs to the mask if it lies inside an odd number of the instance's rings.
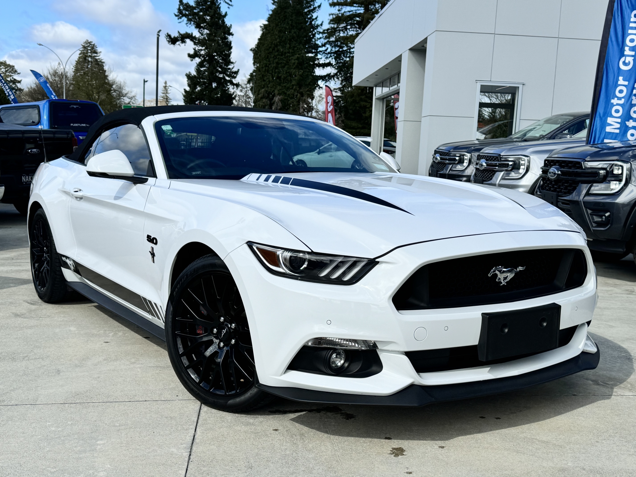
{"label": "shadow on the concrete below the Mustang's front bumper", "polygon": [[601,350],[596,370],[520,391],[423,408],[308,404],[277,399],[250,414],[298,414],[291,422],[335,436],[415,441],[448,441],[534,424],[610,399],[614,388],[632,376],[633,357],[628,350],[603,336],[590,335]]}

